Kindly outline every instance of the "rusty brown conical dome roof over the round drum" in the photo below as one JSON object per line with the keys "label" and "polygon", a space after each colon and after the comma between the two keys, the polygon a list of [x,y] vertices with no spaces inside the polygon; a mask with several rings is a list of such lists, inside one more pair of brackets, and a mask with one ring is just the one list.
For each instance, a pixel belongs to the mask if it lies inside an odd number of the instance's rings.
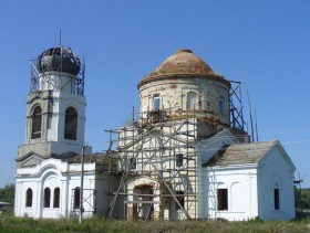
{"label": "rusty brown conical dome roof over the round drum", "polygon": [[205,76],[216,80],[230,86],[229,82],[223,76],[215,74],[210,66],[192,50],[177,50],[175,54],[166,59],[155,71],[143,77],[138,86],[155,78],[188,76]]}

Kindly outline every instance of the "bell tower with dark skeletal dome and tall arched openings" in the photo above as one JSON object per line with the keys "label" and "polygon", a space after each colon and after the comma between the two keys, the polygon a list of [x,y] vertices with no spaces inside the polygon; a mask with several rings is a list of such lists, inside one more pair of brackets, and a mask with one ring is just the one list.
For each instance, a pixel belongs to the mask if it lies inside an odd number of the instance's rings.
{"label": "bell tower with dark skeletal dome and tall arched openings", "polygon": [[85,64],[69,47],[51,47],[32,64],[25,141],[18,167],[80,155],[85,134]]}

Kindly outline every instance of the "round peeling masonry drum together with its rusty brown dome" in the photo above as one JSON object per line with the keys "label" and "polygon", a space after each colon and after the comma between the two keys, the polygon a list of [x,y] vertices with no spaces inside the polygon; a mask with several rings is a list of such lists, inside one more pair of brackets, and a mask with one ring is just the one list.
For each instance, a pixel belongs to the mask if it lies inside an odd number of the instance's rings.
{"label": "round peeling masonry drum together with its rusty brown dome", "polygon": [[163,110],[166,119],[195,117],[209,125],[229,126],[230,83],[192,50],[178,50],[137,87],[141,113]]}

